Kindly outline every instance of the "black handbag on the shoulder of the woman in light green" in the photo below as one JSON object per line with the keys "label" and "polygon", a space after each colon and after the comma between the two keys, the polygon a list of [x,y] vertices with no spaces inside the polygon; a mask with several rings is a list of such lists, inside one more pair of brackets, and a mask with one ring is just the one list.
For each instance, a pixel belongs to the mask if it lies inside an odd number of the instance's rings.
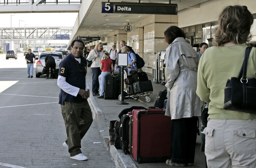
{"label": "black handbag on the shoulder of the woman in light green", "polygon": [[256,78],[247,78],[247,63],[252,47],[245,50],[244,62],[238,78],[228,79],[225,87],[225,110],[256,114]]}

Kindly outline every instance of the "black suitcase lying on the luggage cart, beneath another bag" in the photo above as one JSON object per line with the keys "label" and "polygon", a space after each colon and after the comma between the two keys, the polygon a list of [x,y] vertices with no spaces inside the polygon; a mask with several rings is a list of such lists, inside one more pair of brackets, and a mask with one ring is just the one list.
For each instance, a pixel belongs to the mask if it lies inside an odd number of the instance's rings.
{"label": "black suitcase lying on the luggage cart, beneath another bag", "polygon": [[149,81],[137,81],[133,83],[134,93],[153,92],[152,82]]}

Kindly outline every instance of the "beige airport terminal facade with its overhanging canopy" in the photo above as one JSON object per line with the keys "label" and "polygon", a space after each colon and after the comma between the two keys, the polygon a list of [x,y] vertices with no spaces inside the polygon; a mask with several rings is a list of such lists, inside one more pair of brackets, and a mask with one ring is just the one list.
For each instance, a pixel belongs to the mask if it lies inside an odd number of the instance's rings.
{"label": "beige airport terminal facade with its overhanging canopy", "polygon": [[[211,46],[218,15],[225,6],[238,4],[248,7],[255,18],[254,27],[251,29],[251,33],[254,35],[251,42],[256,44],[255,0],[171,0],[171,3],[177,3],[178,5],[177,15],[129,14],[129,11],[125,14],[101,13],[100,5],[104,1],[106,0],[82,1],[70,43],[78,36],[90,36],[90,33],[87,32],[91,30],[99,33],[91,36],[100,36],[102,40],[88,42],[85,45],[86,49],[91,49],[97,42],[102,42],[104,50],[109,51],[112,45],[115,44],[119,51],[119,42],[125,40],[127,45],[131,46],[140,57],[143,57],[145,61],[143,70],[148,73],[152,73],[153,66],[155,66],[153,64],[156,62],[156,52],[165,51],[167,47],[163,34],[166,28],[172,25],[182,28],[191,45],[196,46],[196,44],[206,42]],[[137,2],[137,0],[112,1],[116,3]],[[168,5],[170,1],[147,0],[145,3],[149,2]],[[143,0],[140,0],[140,3],[143,3]],[[144,7],[146,8],[147,6]],[[99,20],[99,23],[97,23],[97,20]],[[106,20],[108,20],[108,23]],[[121,25],[121,28],[113,28],[115,23],[119,27]],[[101,24],[101,29],[103,27],[110,27],[110,29],[100,32],[101,30],[99,30],[97,24]],[[125,30],[125,25],[127,24],[132,27],[130,32]],[[117,25],[116,27],[118,27]]]}

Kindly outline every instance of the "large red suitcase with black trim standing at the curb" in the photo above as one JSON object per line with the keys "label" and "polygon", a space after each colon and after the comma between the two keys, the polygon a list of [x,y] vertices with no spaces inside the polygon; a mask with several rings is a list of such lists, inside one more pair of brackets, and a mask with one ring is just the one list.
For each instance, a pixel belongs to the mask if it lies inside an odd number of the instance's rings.
{"label": "large red suitcase with black trim standing at the curb", "polygon": [[138,163],[165,162],[171,154],[171,117],[162,108],[133,110],[132,157]]}

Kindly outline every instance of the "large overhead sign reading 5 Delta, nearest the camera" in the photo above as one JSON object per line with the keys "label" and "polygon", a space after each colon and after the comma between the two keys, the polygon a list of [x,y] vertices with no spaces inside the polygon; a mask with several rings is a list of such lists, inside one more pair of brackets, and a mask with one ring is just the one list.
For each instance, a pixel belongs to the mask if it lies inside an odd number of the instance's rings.
{"label": "large overhead sign reading 5 Delta, nearest the camera", "polygon": [[101,13],[177,15],[177,11],[173,3],[101,3]]}

